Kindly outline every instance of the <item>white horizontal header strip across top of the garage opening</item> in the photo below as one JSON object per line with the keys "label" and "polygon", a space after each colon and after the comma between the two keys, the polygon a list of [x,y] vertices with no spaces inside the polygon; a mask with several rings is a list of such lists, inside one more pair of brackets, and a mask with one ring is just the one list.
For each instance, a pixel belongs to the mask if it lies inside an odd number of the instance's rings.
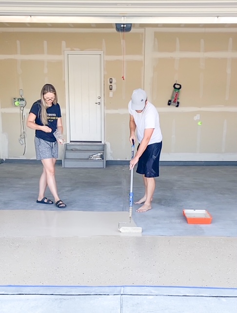
{"label": "white horizontal header strip across top of the garage opening", "polygon": [[236,26],[237,0],[0,0],[0,27],[12,23],[107,28],[114,23]]}

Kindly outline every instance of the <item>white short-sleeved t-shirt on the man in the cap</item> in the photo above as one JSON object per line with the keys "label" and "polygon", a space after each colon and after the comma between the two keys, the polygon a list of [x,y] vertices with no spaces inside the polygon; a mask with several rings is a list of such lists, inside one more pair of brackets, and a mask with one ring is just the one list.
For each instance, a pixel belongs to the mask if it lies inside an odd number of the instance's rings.
{"label": "white short-sleeved t-shirt on the man in the cap", "polygon": [[144,136],[144,130],[147,128],[154,128],[154,132],[148,145],[160,142],[162,140],[162,134],[159,127],[159,114],[155,106],[148,102],[145,109],[141,113],[138,113],[135,110],[132,110],[131,102],[132,101],[130,100],[128,104],[128,111],[131,115],[133,115],[135,124],[137,126],[138,142],[141,142]]}

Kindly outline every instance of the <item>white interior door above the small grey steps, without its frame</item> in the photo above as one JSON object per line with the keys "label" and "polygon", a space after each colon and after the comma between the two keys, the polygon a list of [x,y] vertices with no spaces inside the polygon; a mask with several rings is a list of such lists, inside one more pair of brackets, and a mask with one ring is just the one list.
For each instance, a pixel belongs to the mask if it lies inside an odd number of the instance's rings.
{"label": "white interior door above the small grey steps, without its frame", "polygon": [[103,134],[101,54],[67,54],[70,141],[99,141]]}

